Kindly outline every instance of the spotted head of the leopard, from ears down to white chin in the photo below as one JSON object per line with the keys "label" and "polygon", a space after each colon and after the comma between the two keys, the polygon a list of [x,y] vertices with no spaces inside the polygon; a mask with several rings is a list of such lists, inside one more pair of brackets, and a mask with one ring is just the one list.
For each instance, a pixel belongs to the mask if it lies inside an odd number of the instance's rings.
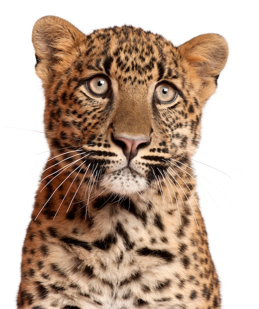
{"label": "spotted head of the leopard, from ears down to white chin", "polygon": [[[33,36],[52,156],[77,173],[77,181],[91,179],[100,190],[122,196],[181,175],[197,147],[202,107],[224,61],[211,72],[212,60],[199,63],[200,51],[192,51],[195,42],[186,52],[187,43],[177,48],[131,26],[84,36],[69,24],[73,31],[63,35],[66,41],[57,35],[64,29],[55,27],[44,38],[39,28]],[[50,43],[51,31],[56,33]]]}

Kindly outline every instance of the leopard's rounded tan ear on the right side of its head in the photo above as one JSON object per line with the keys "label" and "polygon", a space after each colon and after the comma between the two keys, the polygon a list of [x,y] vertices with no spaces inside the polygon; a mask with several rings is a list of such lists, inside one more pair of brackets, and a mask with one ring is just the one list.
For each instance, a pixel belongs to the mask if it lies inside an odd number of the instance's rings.
{"label": "leopard's rounded tan ear on the right side of its head", "polygon": [[227,42],[217,34],[190,39],[179,46],[178,50],[201,77],[219,76],[228,56]]}

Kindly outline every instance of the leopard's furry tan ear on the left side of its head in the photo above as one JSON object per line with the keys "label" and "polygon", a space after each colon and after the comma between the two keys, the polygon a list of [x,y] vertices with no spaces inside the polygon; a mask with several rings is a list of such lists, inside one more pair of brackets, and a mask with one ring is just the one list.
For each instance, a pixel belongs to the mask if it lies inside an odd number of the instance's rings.
{"label": "leopard's furry tan ear on the left side of its head", "polygon": [[83,33],[62,18],[45,16],[37,20],[32,41],[36,52],[37,75],[43,82],[50,81],[53,65],[67,57],[84,38]]}

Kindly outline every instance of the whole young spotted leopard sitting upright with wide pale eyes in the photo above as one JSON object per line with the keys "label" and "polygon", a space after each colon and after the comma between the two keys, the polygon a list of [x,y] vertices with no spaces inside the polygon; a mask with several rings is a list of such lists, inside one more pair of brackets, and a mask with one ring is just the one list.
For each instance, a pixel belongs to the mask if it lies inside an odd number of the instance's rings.
{"label": "whole young spotted leopard sitting upright with wide pale eyes", "polygon": [[131,25],[85,35],[45,16],[32,41],[49,158],[17,308],[220,308],[192,156],[226,40],[175,46]]}

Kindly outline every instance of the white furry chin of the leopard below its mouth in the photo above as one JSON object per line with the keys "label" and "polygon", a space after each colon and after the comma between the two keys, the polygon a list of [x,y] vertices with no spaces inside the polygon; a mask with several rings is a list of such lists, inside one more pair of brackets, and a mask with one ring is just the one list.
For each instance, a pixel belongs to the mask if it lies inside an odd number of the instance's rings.
{"label": "white furry chin of the leopard below its mouth", "polygon": [[121,196],[130,196],[148,189],[147,180],[140,175],[132,174],[128,167],[105,174],[99,185],[105,192]]}

